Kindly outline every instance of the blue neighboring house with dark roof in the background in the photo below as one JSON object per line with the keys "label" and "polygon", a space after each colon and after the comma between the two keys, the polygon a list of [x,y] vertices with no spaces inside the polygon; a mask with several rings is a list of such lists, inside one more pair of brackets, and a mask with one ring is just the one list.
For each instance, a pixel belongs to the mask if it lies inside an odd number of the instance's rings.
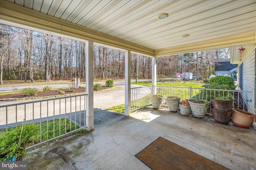
{"label": "blue neighboring house with dark roof in the background", "polygon": [[228,59],[217,59],[215,61],[215,72],[216,76],[230,76],[230,71],[237,68],[238,64],[231,64],[230,58]]}

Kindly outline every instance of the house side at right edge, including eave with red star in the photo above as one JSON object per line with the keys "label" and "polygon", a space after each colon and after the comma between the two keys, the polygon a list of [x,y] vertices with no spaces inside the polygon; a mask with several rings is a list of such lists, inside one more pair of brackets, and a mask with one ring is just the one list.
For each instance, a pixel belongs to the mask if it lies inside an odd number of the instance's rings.
{"label": "house side at right edge, including eave with red star", "polygon": [[241,53],[241,55],[239,53],[241,46],[230,48],[230,63],[238,64],[238,88],[239,90],[252,92],[242,92],[242,97],[244,99],[244,102],[246,103],[246,106],[248,107],[248,111],[250,113],[255,113],[256,44],[254,42],[253,45],[243,45],[242,47],[245,48],[245,50]]}

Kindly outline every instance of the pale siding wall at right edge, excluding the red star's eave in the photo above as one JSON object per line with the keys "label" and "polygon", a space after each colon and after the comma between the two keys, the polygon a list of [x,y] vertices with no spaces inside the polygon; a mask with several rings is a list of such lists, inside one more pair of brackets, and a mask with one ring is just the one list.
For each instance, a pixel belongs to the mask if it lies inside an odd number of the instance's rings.
{"label": "pale siding wall at right edge, excluding the red star's eave", "polygon": [[[244,102],[250,113],[254,113],[254,87],[255,87],[255,48],[256,45],[252,45],[248,48],[244,54],[242,61],[238,63],[238,69],[240,64],[243,63],[243,91],[252,91],[252,93],[243,93]],[[238,71],[239,72],[239,71]],[[240,76],[240,75],[239,75]],[[239,84],[240,82],[238,82]],[[252,102],[250,102],[252,100]],[[253,108],[253,109],[252,109]]]}

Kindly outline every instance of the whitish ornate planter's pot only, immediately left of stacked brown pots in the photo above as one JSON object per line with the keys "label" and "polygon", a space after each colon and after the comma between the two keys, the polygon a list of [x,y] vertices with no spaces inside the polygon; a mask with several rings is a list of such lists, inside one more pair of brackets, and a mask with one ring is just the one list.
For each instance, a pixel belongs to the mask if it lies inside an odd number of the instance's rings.
{"label": "whitish ornate planter's pot only, immediately left of stacked brown pots", "polygon": [[[205,103],[202,103],[202,104],[194,103],[193,101],[194,100],[188,100],[188,102],[190,104],[191,111],[192,111],[192,115],[195,117],[204,117],[206,109],[207,109],[206,104]],[[206,100],[201,100],[201,101],[206,102]]]}

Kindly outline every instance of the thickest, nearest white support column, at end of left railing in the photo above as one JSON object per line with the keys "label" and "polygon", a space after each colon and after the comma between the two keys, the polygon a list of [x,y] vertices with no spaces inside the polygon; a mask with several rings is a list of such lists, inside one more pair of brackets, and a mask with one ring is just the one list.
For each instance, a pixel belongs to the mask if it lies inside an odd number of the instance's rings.
{"label": "thickest, nearest white support column, at end of left railing", "polygon": [[86,130],[94,128],[93,110],[93,42],[86,42]]}

